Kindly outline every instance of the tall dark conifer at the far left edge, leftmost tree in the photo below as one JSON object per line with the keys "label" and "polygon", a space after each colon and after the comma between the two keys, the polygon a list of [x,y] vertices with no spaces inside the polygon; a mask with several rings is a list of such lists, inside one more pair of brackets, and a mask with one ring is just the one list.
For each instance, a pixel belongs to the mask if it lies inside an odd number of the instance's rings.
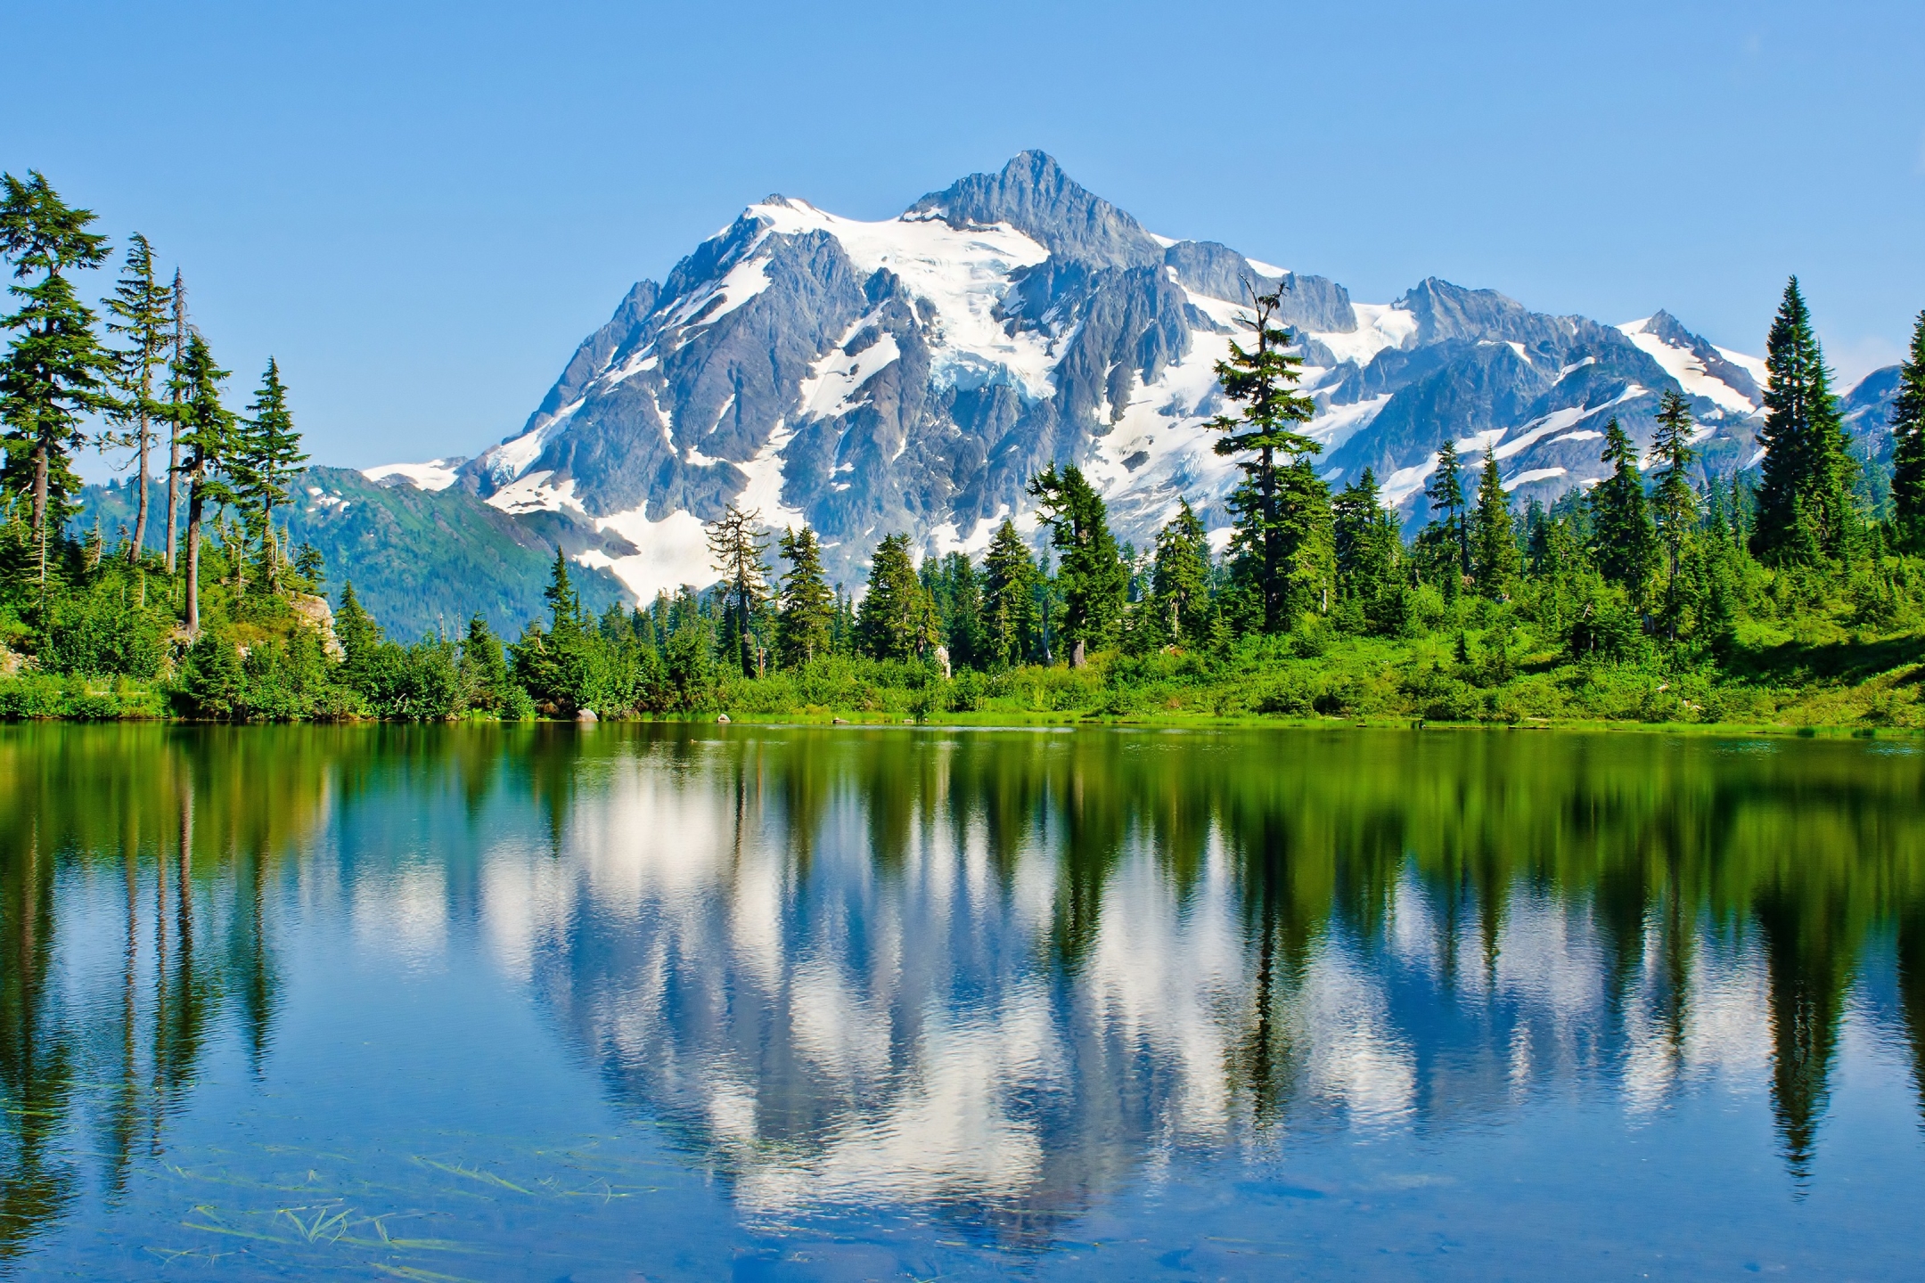
{"label": "tall dark conifer at the far left edge, leftmost tree", "polygon": [[13,492],[33,494],[33,539],[38,579],[46,591],[46,541],[73,512],[81,479],[73,450],[85,444],[83,415],[112,404],[104,375],[114,356],[94,335],[94,314],[79,300],[67,273],[98,267],[108,240],[87,231],[92,210],[65,204],[38,171],[27,181],[0,175],[0,258],[13,264],[12,285],[21,300],[0,325],[17,331],[0,358],[0,423],[6,429],[4,479]]}

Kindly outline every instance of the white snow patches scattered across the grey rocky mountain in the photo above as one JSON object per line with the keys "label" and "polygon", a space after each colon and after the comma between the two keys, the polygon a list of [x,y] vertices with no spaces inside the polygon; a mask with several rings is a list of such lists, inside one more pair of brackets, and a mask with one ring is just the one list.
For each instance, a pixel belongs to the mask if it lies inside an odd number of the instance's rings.
{"label": "white snow patches scattered across the grey rocky mountain", "polygon": [[[670,344],[680,342],[683,333],[714,325],[716,319],[768,289],[766,264],[774,252],[770,237],[826,233],[841,244],[862,277],[878,269],[891,271],[901,281],[903,290],[916,300],[916,312],[924,317],[924,340],[930,346],[932,371],[939,387],[1005,383],[1030,400],[1045,400],[1055,394],[1055,367],[1068,348],[1065,337],[1051,339],[1034,327],[1018,329],[1014,321],[999,319],[999,306],[1013,289],[1013,273],[1041,264],[1049,256],[1041,244],[1009,225],[957,229],[930,212],[868,223],[837,217],[808,202],[789,198],[770,198],[749,206],[745,217],[760,223],[757,239],[724,277],[699,285],[683,298],[666,298],[658,304],[658,310],[670,319],[656,342],[624,356],[620,365],[610,358],[583,398],[551,415],[537,417],[529,431],[504,440],[483,456],[489,475],[500,487],[487,500],[489,504],[516,514],[566,510],[593,521],[597,529],[620,533],[631,542],[637,550],[629,556],[587,552],[578,560],[612,571],[639,600],[649,600],[656,592],[674,591],[680,585],[706,587],[718,581],[716,569],[708,564],[701,521],[689,512],[651,516],[647,504],[608,516],[589,514],[576,500],[572,481],[556,483],[547,471],[531,469],[541,458],[543,446],[566,429],[593,390],[654,369],[658,365],[656,346],[664,352],[670,350]],[[716,239],[732,231],[733,227],[722,229]],[[1174,244],[1167,237],[1157,237],[1157,242]],[[1280,267],[1270,264],[1245,262],[1267,277],[1284,275]],[[1174,269],[1170,275],[1174,281]],[[1126,404],[1099,408],[1099,427],[1107,431],[1095,437],[1084,464],[1084,471],[1101,489],[1113,514],[1136,523],[1161,523],[1176,512],[1180,500],[1188,498],[1192,504],[1215,500],[1234,483],[1236,465],[1215,454],[1217,433],[1207,423],[1211,415],[1226,410],[1217,389],[1215,367],[1228,356],[1232,339],[1245,333],[1242,321],[1247,308],[1240,300],[1215,298],[1194,289],[1184,289],[1184,294],[1201,317],[1201,323],[1190,331],[1188,354],[1163,367],[1151,383],[1136,383]],[[1369,427],[1390,400],[1388,394],[1378,394],[1367,400],[1332,402],[1332,392],[1342,379],[1386,348],[1407,348],[1417,340],[1419,323],[1407,308],[1359,302],[1353,302],[1351,308],[1357,317],[1353,331],[1307,333],[1307,339],[1315,339],[1321,350],[1336,362],[1334,365],[1307,365],[1301,383],[1303,390],[1317,402],[1317,415],[1307,425],[1307,433],[1326,452],[1340,448],[1355,433]],[[1648,319],[1630,321],[1619,329],[1686,392],[1706,396],[1719,408],[1744,415],[1759,410],[1752,398],[1713,377],[1688,348],[1673,346],[1657,335],[1646,333]],[[758,508],[770,529],[801,525],[803,514],[783,502],[783,450],[797,427],[837,419],[860,408],[870,396],[872,381],[901,360],[893,335],[882,335],[868,346],[849,350],[870,323],[870,315],[859,317],[812,362],[793,402],[768,427],[768,435],[751,458],[726,460],[703,454],[697,448],[701,429],[687,431],[689,425],[676,425],[672,408],[658,402],[668,448],[685,467],[732,467],[743,473],[747,487],[737,498],[747,508]],[[1763,379],[1763,364],[1756,358],[1723,348],[1717,352],[1756,379]],[[1521,348],[1519,356],[1530,360]],[[1567,365],[1557,377],[1569,377],[1594,360],[1586,358]],[[1632,389],[1632,392],[1648,394],[1646,389]],[[1621,400],[1625,398],[1611,404]],[[1459,442],[1459,448],[1467,454],[1488,450],[1500,462],[1507,462],[1540,440],[1578,440],[1598,435],[1580,425],[1607,408],[1559,410],[1525,425],[1509,439],[1505,439],[1505,429],[1492,429]],[[897,452],[901,448],[903,444],[897,446]],[[366,475],[377,481],[406,479],[424,491],[439,491],[454,481],[450,464],[449,460],[389,464],[368,469]],[[1411,498],[1423,489],[1434,467],[1436,458],[1432,456],[1380,477],[1384,502],[1401,504]],[[1565,475],[1563,467],[1532,467],[1519,460],[1505,479],[1505,487],[1515,489],[1561,475]],[[859,485],[859,479],[837,479],[834,485]],[[1018,525],[1028,531],[1036,529],[1034,514],[1026,510],[999,514],[993,521],[974,521],[968,531],[947,521],[928,531],[920,552],[980,552],[1001,516],[1016,517]]]}

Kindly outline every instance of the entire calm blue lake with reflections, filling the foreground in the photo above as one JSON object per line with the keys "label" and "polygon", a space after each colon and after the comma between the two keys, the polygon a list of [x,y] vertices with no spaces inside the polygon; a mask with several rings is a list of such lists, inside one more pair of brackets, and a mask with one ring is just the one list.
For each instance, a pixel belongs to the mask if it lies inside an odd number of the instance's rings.
{"label": "entire calm blue lake with reflections, filling the foreground", "polygon": [[0,727],[0,1275],[1925,1273],[1925,756]]}

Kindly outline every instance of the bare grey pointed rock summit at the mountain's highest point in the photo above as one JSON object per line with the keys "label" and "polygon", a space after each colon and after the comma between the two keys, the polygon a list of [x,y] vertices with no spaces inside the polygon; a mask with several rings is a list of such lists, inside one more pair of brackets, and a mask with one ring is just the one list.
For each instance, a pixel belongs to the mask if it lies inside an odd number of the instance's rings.
{"label": "bare grey pointed rock summit at the mountain's highest point", "polygon": [[951,227],[1009,223],[1057,258],[1097,267],[1145,267],[1163,246],[1134,217],[1076,183],[1047,152],[1020,152],[995,173],[972,173],[930,192],[905,217]]}

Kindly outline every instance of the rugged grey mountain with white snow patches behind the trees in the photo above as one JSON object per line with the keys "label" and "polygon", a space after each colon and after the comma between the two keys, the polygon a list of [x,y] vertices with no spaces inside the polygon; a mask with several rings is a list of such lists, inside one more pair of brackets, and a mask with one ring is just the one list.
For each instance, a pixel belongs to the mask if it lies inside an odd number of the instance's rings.
{"label": "rugged grey mountain with white snow patches behind the trees", "polygon": [[662,285],[635,285],[518,435],[368,475],[566,514],[593,533],[578,558],[641,598],[714,581],[701,523],[730,502],[814,525],[857,583],[895,531],[939,554],[980,550],[1005,516],[1034,529],[1024,481],[1049,462],[1080,464],[1143,546],[1180,498],[1226,527],[1234,467],[1203,427],[1226,408],[1215,364],[1247,290],[1276,285],[1324,475],[1373,467],[1413,519],[1446,439],[1550,498],[1604,473],[1609,415],[1648,442],[1665,389],[1690,398],[1711,471],[1756,454],[1761,362],[1663,312],[1600,325],[1438,279],[1355,302],[1157,237],[1024,152],[878,223],[749,206]]}

